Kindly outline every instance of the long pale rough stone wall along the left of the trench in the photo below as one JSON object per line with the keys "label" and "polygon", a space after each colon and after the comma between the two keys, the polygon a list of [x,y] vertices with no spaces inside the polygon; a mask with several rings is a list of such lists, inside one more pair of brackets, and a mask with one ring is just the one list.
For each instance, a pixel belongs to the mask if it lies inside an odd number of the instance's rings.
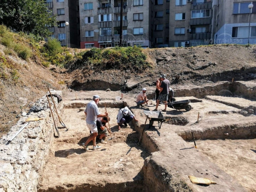
{"label": "long pale rough stone wall along the left of the trench", "polygon": [[[61,91],[51,92],[63,96]],[[63,110],[63,102],[58,103],[57,98],[53,98],[60,114]],[[37,100],[35,105],[46,109],[37,113],[22,113],[17,124],[0,139],[0,192],[37,191],[38,177],[47,162],[55,128],[46,95]],[[56,114],[54,116],[57,123]],[[19,131],[28,117],[43,117],[44,119],[30,122],[8,143],[8,140]]]}

